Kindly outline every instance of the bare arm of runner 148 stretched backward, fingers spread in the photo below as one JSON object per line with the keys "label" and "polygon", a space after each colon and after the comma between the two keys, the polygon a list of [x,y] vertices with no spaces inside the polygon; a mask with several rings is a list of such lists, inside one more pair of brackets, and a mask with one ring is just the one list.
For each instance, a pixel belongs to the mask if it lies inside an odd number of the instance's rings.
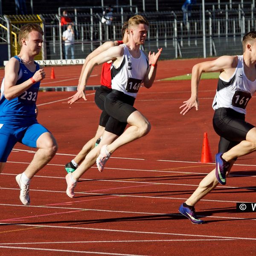
{"label": "bare arm of runner 148 stretched backward, fingers spread", "polygon": [[87,65],[84,69],[84,73],[83,73],[82,79],[81,79],[81,84],[79,86],[77,93],[75,95],[69,97],[70,100],[68,101],[68,103],[71,105],[81,98],[86,100],[84,90],[85,90],[87,80],[90,77],[90,73],[93,71],[93,68],[96,65],[102,64],[107,61],[111,61],[114,58],[118,59],[123,56],[123,53],[124,53],[123,47],[111,47],[108,50],[106,50],[106,51],[100,53],[99,55],[95,56],[94,58],[92,58],[87,63]]}

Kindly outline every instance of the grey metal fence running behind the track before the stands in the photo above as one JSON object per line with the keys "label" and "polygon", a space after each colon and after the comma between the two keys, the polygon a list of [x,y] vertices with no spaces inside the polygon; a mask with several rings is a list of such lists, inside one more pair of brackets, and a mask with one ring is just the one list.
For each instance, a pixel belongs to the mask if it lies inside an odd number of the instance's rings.
{"label": "grey metal fence running behind the track before the stands", "polygon": [[[89,10],[72,11],[71,18],[75,21],[75,58],[86,57],[106,40],[120,39],[122,22],[137,13],[135,6],[129,12],[115,14],[111,26],[107,26],[100,22],[96,12]],[[163,47],[161,58],[203,57],[204,50],[206,56],[241,54],[243,35],[256,28],[255,11],[252,3],[209,5],[205,11],[205,20],[200,10],[192,11],[186,20],[183,19],[183,12],[138,12],[150,22],[144,49],[156,51]],[[60,13],[42,17],[46,59],[64,58],[61,38],[64,28],[60,25]],[[4,20],[3,16],[0,17],[3,26]],[[2,26],[1,43],[6,44],[6,30]]]}

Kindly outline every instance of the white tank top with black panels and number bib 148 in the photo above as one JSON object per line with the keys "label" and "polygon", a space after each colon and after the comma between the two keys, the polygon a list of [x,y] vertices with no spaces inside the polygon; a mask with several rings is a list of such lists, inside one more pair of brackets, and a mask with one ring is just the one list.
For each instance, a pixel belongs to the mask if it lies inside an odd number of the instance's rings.
{"label": "white tank top with black panels and number bib 148", "polygon": [[121,65],[118,68],[114,64],[111,66],[112,89],[136,98],[148,69],[148,59],[142,50],[140,57],[134,58],[125,44],[122,44],[122,47],[124,55]]}

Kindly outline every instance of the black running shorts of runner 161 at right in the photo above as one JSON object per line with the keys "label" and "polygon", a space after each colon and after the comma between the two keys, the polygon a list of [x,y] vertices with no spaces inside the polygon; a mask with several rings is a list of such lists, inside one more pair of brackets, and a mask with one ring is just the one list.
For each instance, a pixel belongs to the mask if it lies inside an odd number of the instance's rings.
{"label": "black running shorts of runner 161 at right", "polygon": [[247,132],[254,128],[245,121],[245,115],[231,108],[218,108],[215,110],[213,128],[221,137],[218,152],[226,152],[230,148],[246,140]]}

